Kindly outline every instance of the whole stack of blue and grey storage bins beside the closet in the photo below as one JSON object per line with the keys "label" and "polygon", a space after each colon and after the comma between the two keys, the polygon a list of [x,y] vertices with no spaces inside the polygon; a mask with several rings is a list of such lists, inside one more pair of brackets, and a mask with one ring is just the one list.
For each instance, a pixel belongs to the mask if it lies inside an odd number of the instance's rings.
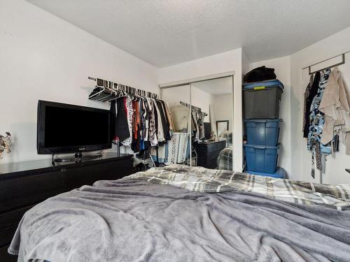
{"label": "whole stack of blue and grey storage bins beside the closet", "polygon": [[283,168],[277,168],[282,93],[283,84],[279,80],[243,85],[246,173],[278,178],[286,176]]}

